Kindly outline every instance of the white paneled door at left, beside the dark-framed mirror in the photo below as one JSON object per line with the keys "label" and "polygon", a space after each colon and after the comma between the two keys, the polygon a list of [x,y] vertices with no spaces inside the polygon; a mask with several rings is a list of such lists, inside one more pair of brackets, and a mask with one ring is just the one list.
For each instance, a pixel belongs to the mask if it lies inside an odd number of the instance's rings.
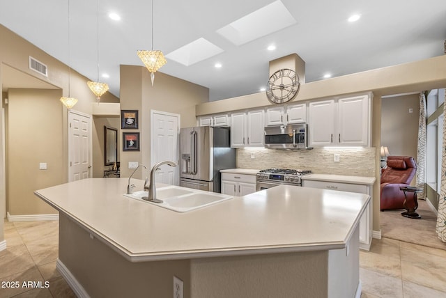
{"label": "white paneled door at left, beside the dark-framed mirror", "polygon": [[91,116],[68,112],[68,181],[91,177]]}

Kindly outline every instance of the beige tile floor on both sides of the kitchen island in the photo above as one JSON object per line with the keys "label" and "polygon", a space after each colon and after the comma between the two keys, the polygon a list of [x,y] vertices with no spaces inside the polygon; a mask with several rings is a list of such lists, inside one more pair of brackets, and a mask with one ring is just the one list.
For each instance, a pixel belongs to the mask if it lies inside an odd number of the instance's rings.
{"label": "beige tile floor on both sides of the kitchen island", "polygon": [[[57,221],[5,223],[0,282],[44,281],[49,288],[0,288],[3,297],[75,297],[56,269]],[[446,251],[398,240],[374,239],[360,251],[361,298],[446,298]]]}

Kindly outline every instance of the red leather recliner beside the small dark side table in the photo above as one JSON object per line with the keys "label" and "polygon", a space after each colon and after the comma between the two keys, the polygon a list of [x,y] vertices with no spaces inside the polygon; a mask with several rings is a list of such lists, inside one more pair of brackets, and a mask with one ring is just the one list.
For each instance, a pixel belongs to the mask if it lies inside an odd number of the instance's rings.
{"label": "red leather recliner beside the small dark side table", "polygon": [[[410,186],[410,182],[417,171],[417,164],[413,157],[387,157],[387,168],[381,173],[381,206],[380,210],[404,208],[404,192],[399,187]],[[415,207],[413,192],[406,192],[406,207]]]}

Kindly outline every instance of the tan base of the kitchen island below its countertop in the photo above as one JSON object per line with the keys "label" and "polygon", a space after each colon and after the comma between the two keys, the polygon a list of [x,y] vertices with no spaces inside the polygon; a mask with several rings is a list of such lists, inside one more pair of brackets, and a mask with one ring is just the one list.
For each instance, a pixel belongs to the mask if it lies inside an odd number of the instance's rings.
{"label": "tan base of the kitchen island below its countertop", "polygon": [[[358,229],[346,249],[130,262],[60,215],[59,272],[78,297],[345,298],[361,295]],[[93,239],[92,239],[93,238]]]}

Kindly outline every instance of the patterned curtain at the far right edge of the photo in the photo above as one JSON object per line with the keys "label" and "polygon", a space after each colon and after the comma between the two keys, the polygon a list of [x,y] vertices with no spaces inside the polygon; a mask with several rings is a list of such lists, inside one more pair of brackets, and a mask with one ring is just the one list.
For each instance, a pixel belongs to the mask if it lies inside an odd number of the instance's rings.
{"label": "patterned curtain at the far right edge of the photo", "polygon": [[[446,97],[446,94],[445,94]],[[438,199],[437,228],[438,238],[446,242],[446,104],[443,105],[443,150],[441,153],[441,187]]]}

